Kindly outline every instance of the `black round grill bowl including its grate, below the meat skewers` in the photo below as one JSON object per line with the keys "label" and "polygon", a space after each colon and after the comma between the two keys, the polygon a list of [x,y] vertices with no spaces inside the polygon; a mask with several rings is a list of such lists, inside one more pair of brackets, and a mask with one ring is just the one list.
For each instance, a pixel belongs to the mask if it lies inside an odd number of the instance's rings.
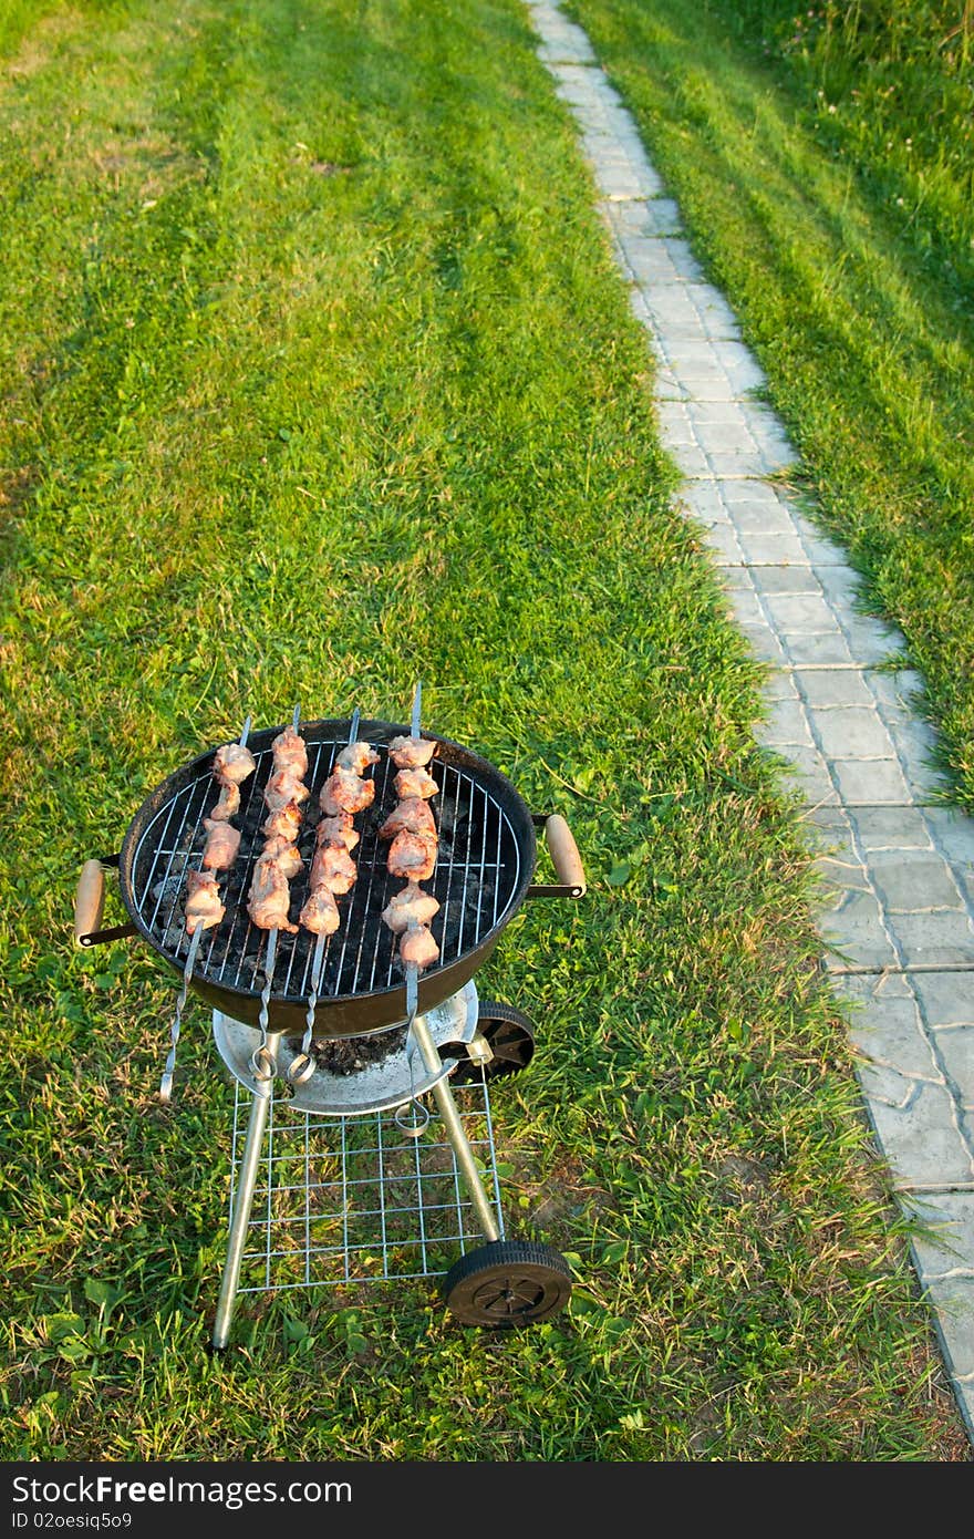
{"label": "black round grill bowl including its grate, below the meat skewers", "polygon": [[[262,959],[266,933],[251,925],[246,893],[252,865],[260,854],[265,817],[263,786],[272,770],[271,743],[282,726],[254,733],[248,742],[257,759],[255,773],[242,788],[240,853],[220,885],[226,914],[206,931],[191,988],[215,1010],[257,1025],[265,983]],[[325,719],[300,726],[308,745],[306,819],[299,839],[305,870],[291,883],[291,916],[306,894],[309,853],[317,820],[317,793],[328,779],[339,749],[348,742],[349,722]],[[380,762],[374,766],[375,802],[355,817],[362,840],[354,851],[359,880],[339,899],[342,925],[329,937],[315,1008],[319,1037],[366,1036],[406,1019],[406,990],[397,937],[382,923],[382,910],[400,882],[386,870],[388,845],[377,837],[379,825],[395,805],[395,766],[383,745],[409,726],[362,720],[359,737],[374,743]],[[419,1005],[432,1010],[455,994],[489,957],[509,920],[520,908],[534,874],[537,846],[531,813],[511,782],[486,759],[451,739],[423,733],[437,743],[429,765],[440,785],[432,799],[440,830],[437,868],[425,883],[440,900],[432,933],[440,960],[420,976]],[[132,923],[148,943],[178,974],[183,971],[186,934],[182,913],[186,871],[198,866],[205,842],[203,816],[214,805],[215,748],[200,754],[162,782],[142,803],[126,831],[118,856],[122,900]],[[306,1025],[311,954],[314,937],[306,931],[279,936],[277,963],[268,1005],[269,1031],[303,1031]]]}

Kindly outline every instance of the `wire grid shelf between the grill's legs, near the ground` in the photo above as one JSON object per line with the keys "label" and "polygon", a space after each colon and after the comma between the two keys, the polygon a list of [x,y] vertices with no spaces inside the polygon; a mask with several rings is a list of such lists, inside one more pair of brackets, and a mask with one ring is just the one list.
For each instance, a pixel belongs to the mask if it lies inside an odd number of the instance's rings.
{"label": "wire grid shelf between the grill's legs, near the ground", "polygon": [[[454,1088],[503,1237],[486,1079]],[[235,1087],[231,1214],[251,1096]],[[452,1145],[432,1107],[411,1139],[394,1111],[317,1117],[272,1099],[240,1293],[443,1276],[483,1244]]]}

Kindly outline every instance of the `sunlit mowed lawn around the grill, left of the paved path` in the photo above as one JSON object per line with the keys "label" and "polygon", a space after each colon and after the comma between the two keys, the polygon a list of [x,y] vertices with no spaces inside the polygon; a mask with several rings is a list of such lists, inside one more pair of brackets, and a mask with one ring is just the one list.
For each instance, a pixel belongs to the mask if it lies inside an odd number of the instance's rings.
{"label": "sunlit mowed lawn around the grill, left of the paved path", "polygon": [[[963,1461],[817,968],[759,671],[519,6],[58,8],[0,91],[8,1459]],[[571,1311],[220,1284],[231,1091],[82,862],[235,733],[426,720],[562,811],[583,902],[479,976],[511,1233]],[[109,916],[118,905],[109,903]]]}

